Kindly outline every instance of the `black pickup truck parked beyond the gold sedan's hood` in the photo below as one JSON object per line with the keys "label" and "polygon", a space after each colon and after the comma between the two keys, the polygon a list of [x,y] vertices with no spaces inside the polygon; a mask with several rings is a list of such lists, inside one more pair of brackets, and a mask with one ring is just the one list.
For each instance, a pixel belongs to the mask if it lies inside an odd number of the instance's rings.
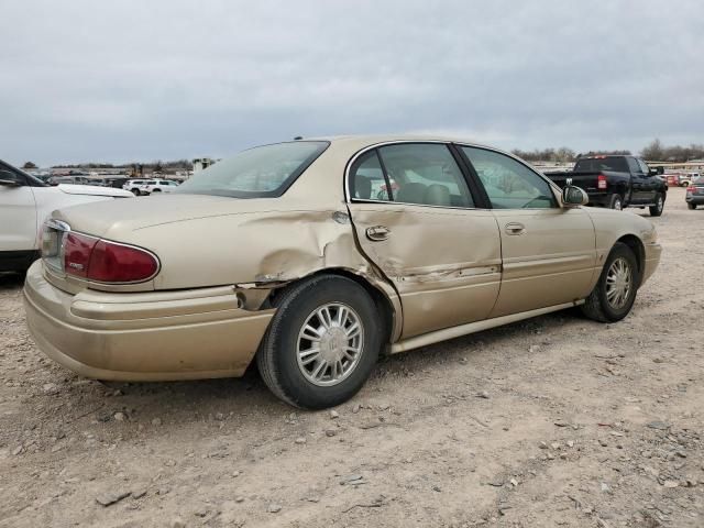
{"label": "black pickup truck parked beyond the gold sedan's hood", "polygon": [[572,179],[572,185],[586,191],[590,206],[648,207],[651,217],[659,217],[668,194],[668,185],[659,174],[638,157],[613,155],[581,157],[572,172],[546,173],[546,176],[561,188]]}

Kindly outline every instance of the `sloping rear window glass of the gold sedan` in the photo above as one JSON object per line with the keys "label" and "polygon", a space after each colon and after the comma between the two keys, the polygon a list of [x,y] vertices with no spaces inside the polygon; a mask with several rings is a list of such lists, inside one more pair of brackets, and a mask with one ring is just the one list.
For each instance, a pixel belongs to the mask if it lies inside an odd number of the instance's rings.
{"label": "sloping rear window glass of the gold sedan", "polygon": [[196,173],[174,191],[233,198],[282,196],[328,145],[295,141],[250,148]]}

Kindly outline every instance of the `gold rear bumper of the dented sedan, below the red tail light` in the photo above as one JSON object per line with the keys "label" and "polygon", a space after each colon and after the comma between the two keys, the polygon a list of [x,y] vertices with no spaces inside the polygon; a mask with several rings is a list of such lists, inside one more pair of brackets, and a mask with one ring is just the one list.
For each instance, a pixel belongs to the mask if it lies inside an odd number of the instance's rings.
{"label": "gold rear bumper of the dented sedan, below the red tail light", "polygon": [[67,294],[35,262],[26,275],[28,327],[38,348],[86,377],[166,381],[240,376],[274,310],[239,308],[230,287]]}

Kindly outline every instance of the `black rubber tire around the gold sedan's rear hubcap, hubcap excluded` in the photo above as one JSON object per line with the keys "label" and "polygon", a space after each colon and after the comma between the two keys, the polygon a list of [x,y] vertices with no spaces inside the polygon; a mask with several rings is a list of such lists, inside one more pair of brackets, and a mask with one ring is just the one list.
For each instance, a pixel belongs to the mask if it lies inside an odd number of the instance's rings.
{"label": "black rubber tire around the gold sedan's rear hubcap, hubcap excluded", "polygon": [[[309,381],[304,375],[305,367],[299,366],[299,332],[318,308],[336,302],[352,308],[359,317],[363,329],[361,352],[346,377],[336,385],[319,386]],[[382,346],[381,318],[365,289],[345,277],[320,275],[294,285],[275,305],[276,314],[256,354],[258,371],[272,393],[306,409],[334,407],[354,396],[372,373]],[[314,362],[314,367],[316,364]],[[323,367],[323,374],[326,372],[328,367]]]}

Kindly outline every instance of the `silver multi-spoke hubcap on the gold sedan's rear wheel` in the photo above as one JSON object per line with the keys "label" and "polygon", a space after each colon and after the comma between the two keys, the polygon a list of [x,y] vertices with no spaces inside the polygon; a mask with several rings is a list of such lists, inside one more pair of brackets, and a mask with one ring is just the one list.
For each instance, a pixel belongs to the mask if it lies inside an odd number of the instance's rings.
{"label": "silver multi-spoke hubcap on the gold sedan's rear wheel", "polygon": [[352,374],[363,345],[360,316],[342,302],[323,305],[306,318],[298,332],[298,369],[314,385],[337,385]]}

